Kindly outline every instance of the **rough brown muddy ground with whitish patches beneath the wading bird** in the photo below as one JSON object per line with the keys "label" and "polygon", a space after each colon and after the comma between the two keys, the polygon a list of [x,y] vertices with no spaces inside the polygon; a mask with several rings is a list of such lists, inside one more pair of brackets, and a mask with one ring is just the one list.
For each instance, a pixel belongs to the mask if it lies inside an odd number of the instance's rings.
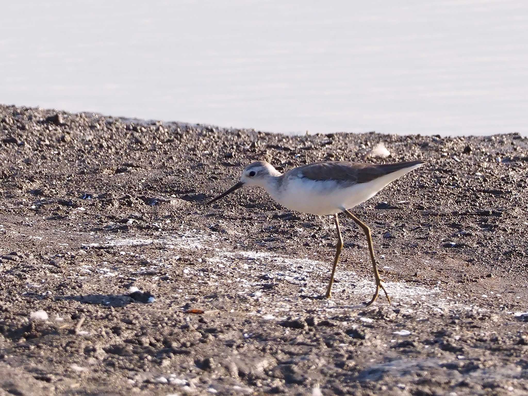
{"label": "rough brown muddy ground with whitish patches beneath the wading bird", "polygon": [[[285,136],[0,106],[0,395],[526,395],[526,137]],[[256,188],[266,159],[427,164],[353,212]]]}

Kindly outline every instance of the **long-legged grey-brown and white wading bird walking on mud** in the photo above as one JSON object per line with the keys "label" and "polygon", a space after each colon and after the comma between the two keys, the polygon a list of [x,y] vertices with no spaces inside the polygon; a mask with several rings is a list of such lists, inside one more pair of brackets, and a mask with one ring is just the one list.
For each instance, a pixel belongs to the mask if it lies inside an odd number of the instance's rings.
{"label": "long-legged grey-brown and white wading bird walking on mud", "polygon": [[264,188],[272,199],[290,210],[318,215],[333,215],[337,229],[337,250],[330,283],[326,290],[326,298],[332,296],[335,269],[343,249],[343,239],[337,214],[344,213],[359,225],[369,244],[370,258],[376,279],[376,291],[367,305],[375,301],[380,288],[384,291],[390,304],[391,299],[382,284],[376,267],[370,229],[349,209],[370,199],[389,183],[423,164],[423,161],[382,165],[328,161],[299,166],[281,174],[266,161],[257,161],[244,169],[237,184],[207,204],[219,200],[240,187],[259,186]]}

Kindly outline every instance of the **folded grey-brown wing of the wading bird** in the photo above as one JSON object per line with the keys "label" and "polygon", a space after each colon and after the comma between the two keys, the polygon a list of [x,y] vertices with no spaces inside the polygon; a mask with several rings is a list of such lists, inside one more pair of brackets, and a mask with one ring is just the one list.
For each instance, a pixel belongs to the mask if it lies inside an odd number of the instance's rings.
{"label": "folded grey-brown wing of the wading bird", "polygon": [[408,161],[395,164],[327,161],[299,166],[291,169],[288,173],[310,180],[335,180],[345,184],[356,184],[367,183],[380,176],[422,163],[423,161]]}

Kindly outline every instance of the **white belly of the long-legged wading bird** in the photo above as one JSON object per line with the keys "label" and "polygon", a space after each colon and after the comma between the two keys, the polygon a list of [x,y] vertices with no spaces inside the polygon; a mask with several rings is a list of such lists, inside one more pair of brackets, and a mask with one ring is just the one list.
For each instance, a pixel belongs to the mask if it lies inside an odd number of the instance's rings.
{"label": "white belly of the long-legged wading bird", "polygon": [[270,194],[275,201],[290,210],[329,215],[350,209],[374,196],[379,190],[371,183],[344,186],[336,181],[314,181],[294,178],[280,193]]}

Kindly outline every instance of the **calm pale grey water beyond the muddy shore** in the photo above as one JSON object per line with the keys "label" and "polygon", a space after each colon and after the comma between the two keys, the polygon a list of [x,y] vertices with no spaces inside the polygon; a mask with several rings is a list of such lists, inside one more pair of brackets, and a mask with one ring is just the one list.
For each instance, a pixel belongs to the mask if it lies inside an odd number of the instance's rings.
{"label": "calm pale grey water beyond the muddy shore", "polygon": [[526,135],[528,2],[5,1],[0,102],[275,132]]}

